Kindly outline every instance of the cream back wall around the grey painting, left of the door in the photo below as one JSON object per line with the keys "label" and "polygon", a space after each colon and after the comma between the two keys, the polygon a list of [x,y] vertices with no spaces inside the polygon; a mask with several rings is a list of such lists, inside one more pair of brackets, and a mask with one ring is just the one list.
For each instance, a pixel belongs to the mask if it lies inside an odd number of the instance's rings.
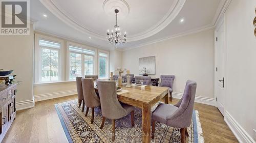
{"label": "cream back wall around the grey painting, left of the door", "polygon": [[214,98],[214,30],[123,51],[123,68],[139,75],[139,58],[156,55],[156,75],[175,75],[174,92],[183,93],[187,79],[197,82],[197,96]]}

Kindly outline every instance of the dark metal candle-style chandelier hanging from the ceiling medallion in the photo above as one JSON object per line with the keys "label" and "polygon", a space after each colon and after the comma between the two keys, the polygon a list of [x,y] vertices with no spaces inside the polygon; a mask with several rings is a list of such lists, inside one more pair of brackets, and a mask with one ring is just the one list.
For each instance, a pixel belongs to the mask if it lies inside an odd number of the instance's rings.
{"label": "dark metal candle-style chandelier hanging from the ceiling medallion", "polygon": [[117,13],[119,12],[119,10],[115,9],[115,13],[116,13],[116,25],[114,26],[115,28],[115,32],[112,30],[111,34],[106,33],[107,38],[109,40],[110,43],[114,43],[119,44],[119,43],[125,43],[126,42],[126,32],[124,32],[123,38],[121,37],[121,32],[120,32],[120,27],[117,25]]}

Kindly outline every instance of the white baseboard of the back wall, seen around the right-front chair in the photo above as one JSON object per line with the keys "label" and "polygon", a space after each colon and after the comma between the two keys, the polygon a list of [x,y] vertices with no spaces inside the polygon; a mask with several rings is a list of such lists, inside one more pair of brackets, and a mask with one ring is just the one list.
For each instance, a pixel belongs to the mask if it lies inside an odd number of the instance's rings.
{"label": "white baseboard of the back wall, seen around the right-front chair", "polygon": [[[173,92],[173,93],[172,93],[173,98],[181,99],[182,95],[183,95],[183,93],[177,93],[177,92]],[[196,97],[195,97],[195,102],[197,102],[197,103],[202,103],[202,104],[206,104],[206,105],[215,106],[215,100],[214,100],[214,98],[196,96]]]}

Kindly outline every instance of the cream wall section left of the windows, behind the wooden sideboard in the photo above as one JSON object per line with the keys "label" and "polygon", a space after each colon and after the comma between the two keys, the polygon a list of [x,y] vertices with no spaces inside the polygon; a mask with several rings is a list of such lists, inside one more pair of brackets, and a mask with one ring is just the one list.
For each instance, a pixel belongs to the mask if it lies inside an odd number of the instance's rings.
{"label": "cream wall section left of the windows, behind the wooden sideboard", "polygon": [[33,25],[28,36],[0,36],[0,69],[14,70],[17,109],[33,107]]}

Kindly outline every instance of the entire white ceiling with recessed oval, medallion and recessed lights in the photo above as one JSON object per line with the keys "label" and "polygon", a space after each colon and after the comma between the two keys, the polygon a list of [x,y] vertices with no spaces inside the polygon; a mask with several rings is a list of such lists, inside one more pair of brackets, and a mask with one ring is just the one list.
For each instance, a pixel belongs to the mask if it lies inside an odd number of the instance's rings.
{"label": "entire white ceiling with recessed oval, medallion and recessed lights", "polygon": [[127,43],[117,47],[124,50],[213,27],[225,3],[226,0],[40,0],[30,1],[30,16],[35,31],[113,49],[106,40],[106,30],[113,28],[114,9],[119,9],[118,25],[127,32]]}

